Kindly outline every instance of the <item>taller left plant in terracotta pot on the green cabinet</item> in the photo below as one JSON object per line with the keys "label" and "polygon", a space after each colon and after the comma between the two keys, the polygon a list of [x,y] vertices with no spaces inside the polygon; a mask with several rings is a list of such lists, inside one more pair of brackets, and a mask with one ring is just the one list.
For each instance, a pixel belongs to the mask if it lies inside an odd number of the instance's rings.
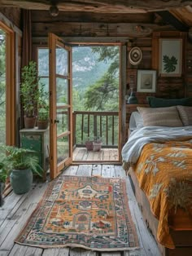
{"label": "taller left plant in terracotta pot on the green cabinet", "polygon": [[25,128],[33,128],[35,126],[39,80],[40,78],[37,77],[37,64],[34,61],[30,61],[28,65],[22,68],[20,85]]}

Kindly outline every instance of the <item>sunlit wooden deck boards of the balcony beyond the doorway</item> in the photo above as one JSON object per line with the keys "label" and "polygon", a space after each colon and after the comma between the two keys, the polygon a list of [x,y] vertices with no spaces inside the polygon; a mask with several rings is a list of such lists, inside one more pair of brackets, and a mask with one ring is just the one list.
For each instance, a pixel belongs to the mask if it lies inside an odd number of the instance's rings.
{"label": "sunlit wooden deck boards of the balcony beyond the doorway", "polygon": [[102,148],[100,151],[88,151],[86,148],[75,148],[73,161],[118,161],[118,148]]}

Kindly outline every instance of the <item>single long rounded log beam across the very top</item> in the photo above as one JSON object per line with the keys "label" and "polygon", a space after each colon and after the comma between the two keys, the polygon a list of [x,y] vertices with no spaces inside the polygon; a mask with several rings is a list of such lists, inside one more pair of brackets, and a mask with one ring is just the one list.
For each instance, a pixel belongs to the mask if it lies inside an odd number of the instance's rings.
{"label": "single long rounded log beam across the very top", "polygon": [[98,13],[141,13],[164,11],[192,5],[188,0],[0,0],[2,7],[48,10],[52,4],[59,11],[92,11]]}

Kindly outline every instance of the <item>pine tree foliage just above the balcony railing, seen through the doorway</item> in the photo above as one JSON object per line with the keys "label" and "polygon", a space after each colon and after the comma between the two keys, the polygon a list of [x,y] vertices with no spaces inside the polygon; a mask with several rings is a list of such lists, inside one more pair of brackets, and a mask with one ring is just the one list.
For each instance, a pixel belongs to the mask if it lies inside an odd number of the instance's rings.
{"label": "pine tree foliage just above the balcony railing, seen through the doorway", "polygon": [[104,111],[118,108],[118,80],[110,73],[105,73],[85,92],[85,108],[87,110]]}

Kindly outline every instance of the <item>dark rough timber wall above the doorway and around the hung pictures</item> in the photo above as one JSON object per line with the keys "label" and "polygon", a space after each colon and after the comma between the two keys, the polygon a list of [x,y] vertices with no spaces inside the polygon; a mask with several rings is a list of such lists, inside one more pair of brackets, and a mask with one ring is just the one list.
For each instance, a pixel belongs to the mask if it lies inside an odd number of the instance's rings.
{"label": "dark rough timber wall above the doorway and around the hung pictures", "polygon": [[[141,31],[137,31],[137,27]],[[142,50],[142,62],[133,66],[127,61],[127,93],[129,88],[137,90],[137,69],[157,70],[157,89],[155,94],[137,92],[139,104],[146,104],[147,95],[164,98],[182,98],[192,95],[192,44],[187,41],[186,33],[178,33],[170,24],[165,24],[158,15],[146,14],[95,14],[89,12],[59,11],[57,17],[51,17],[48,11],[32,11],[33,39],[46,38],[48,33],[55,33],[60,37],[95,38],[95,42],[102,42],[103,38],[115,38],[121,42],[122,38],[129,38],[127,55],[133,46]],[[164,31],[164,33],[162,33]],[[160,33],[163,38],[181,36],[184,38],[183,73],[181,77],[159,77],[158,67],[154,66],[153,38]],[[155,33],[154,33],[155,32]],[[38,41],[38,40],[37,40]],[[128,60],[128,58],[127,58]]]}

